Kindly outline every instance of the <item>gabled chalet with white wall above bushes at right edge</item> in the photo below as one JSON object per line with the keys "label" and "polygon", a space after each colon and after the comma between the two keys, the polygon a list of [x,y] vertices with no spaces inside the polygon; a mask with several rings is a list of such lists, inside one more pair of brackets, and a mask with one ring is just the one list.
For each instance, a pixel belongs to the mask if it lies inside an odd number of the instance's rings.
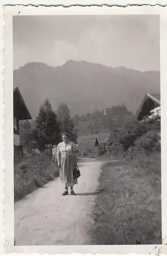
{"label": "gabled chalet with white wall above bushes at right edge", "polygon": [[138,121],[160,117],[160,94],[147,93],[136,113]]}

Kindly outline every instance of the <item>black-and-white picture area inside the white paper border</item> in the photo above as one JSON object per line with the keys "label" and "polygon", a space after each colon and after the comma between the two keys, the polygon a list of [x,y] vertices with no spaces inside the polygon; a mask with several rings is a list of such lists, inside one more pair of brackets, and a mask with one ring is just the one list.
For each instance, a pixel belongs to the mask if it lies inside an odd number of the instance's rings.
{"label": "black-and-white picture area inside the white paper border", "polygon": [[14,246],[161,245],[160,16],[34,13],[12,17]]}

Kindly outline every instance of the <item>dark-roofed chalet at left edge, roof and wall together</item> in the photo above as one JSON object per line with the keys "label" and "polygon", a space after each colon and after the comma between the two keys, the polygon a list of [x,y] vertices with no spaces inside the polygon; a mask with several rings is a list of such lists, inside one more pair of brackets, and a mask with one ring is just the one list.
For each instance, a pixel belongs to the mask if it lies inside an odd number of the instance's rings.
{"label": "dark-roofed chalet at left edge, roof and wall together", "polygon": [[14,155],[23,154],[23,147],[20,145],[19,135],[19,121],[32,119],[32,116],[27,109],[21,93],[16,87],[13,90],[13,142],[14,142]]}

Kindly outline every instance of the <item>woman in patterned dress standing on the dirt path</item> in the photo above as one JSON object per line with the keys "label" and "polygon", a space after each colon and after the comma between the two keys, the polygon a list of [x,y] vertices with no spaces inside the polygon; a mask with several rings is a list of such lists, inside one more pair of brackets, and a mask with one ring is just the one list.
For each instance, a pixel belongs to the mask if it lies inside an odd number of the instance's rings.
{"label": "woman in patterned dress standing on the dirt path", "polygon": [[73,169],[77,165],[76,144],[70,141],[68,133],[64,133],[62,139],[63,142],[59,143],[57,147],[57,157],[60,179],[65,187],[63,196],[68,195],[68,187],[71,188],[71,195],[76,195],[73,190],[73,186],[77,184],[77,179],[73,178]]}

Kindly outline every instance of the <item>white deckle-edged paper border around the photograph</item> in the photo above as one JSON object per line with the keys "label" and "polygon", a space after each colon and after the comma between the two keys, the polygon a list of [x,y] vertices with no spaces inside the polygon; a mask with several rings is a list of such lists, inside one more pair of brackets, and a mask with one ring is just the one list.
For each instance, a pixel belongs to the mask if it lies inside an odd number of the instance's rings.
{"label": "white deckle-edged paper border around the photograph", "polygon": [[[2,9],[0,9],[2,15]],[[72,6],[65,8],[45,6],[6,6],[4,7],[4,45],[0,45],[1,55],[1,81],[0,87],[0,156],[1,156],[1,229],[4,231],[5,253],[31,253],[34,254],[161,254],[167,253],[167,7],[161,6],[127,6],[107,7]],[[82,245],[82,246],[14,246],[14,201],[13,201],[13,15],[159,15],[160,16],[160,82],[161,82],[161,186],[162,186],[162,245]],[[4,59],[3,59],[4,53]],[[5,70],[4,70],[5,66]],[[5,115],[4,115],[5,113]],[[3,155],[4,153],[4,155]],[[5,170],[5,172],[4,172]],[[3,193],[5,197],[3,196]],[[4,212],[3,212],[4,211]],[[5,236],[4,236],[5,235]],[[1,248],[1,247],[0,247]]]}

